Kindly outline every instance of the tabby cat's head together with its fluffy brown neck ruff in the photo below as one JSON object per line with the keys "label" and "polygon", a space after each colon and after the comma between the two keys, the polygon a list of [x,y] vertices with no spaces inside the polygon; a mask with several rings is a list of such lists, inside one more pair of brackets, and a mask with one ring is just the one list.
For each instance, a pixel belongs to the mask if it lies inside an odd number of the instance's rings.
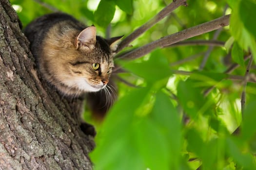
{"label": "tabby cat's head together with its fluffy brown neck ruff", "polygon": [[42,44],[40,72],[67,95],[99,91],[109,81],[120,38],[96,36],[94,26],[82,31],[69,24],[54,26]]}

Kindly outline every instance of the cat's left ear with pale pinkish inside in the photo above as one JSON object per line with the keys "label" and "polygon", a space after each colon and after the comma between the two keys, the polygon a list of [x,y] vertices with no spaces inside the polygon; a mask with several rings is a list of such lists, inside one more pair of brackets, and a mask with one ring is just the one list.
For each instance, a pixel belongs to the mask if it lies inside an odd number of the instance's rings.
{"label": "cat's left ear with pale pinkish inside", "polygon": [[96,27],[91,26],[85,28],[75,39],[75,46],[77,49],[84,48],[85,50],[92,50],[96,44]]}

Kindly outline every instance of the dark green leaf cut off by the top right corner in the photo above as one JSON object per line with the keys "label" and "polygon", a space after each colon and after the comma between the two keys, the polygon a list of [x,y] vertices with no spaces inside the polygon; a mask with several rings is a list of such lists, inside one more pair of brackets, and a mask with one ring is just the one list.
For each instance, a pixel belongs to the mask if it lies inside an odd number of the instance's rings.
{"label": "dark green leaf cut off by the top right corner", "polygon": [[256,38],[256,3],[251,0],[241,0],[239,5],[239,15],[245,28]]}

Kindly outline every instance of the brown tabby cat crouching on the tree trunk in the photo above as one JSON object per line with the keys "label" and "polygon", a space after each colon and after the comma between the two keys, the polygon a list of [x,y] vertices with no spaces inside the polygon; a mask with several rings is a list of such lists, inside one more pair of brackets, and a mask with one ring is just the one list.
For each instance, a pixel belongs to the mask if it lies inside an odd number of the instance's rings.
{"label": "brown tabby cat crouching on the tree trunk", "polygon": [[87,27],[64,13],[35,19],[24,34],[40,76],[60,94],[76,98],[106,89],[122,36],[104,39],[96,35],[96,27]]}

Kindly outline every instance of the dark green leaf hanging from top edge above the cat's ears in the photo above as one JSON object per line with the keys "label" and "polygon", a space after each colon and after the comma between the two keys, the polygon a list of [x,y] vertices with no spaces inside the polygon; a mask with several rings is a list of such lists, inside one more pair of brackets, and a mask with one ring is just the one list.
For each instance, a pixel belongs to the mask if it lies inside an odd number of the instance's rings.
{"label": "dark green leaf hanging from top edge above the cat's ears", "polygon": [[94,20],[101,27],[107,27],[114,17],[116,4],[112,0],[100,0],[94,13]]}

